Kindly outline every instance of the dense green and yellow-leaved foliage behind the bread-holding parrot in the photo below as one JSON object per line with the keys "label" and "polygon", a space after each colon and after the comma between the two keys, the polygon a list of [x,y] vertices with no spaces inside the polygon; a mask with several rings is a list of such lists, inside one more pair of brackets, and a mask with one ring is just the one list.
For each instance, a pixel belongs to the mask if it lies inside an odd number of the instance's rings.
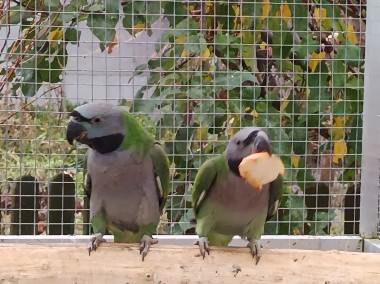
{"label": "dense green and yellow-leaved foliage behind the bread-holding parrot", "polygon": [[[296,186],[301,193],[320,181],[316,171],[324,167],[328,153],[329,168],[345,168],[342,176],[329,182],[355,180],[361,154],[364,61],[362,39],[354,30],[361,24],[362,11],[350,22],[343,6],[317,2],[163,5],[170,29],[156,46],[160,58],[136,68],[135,76],[145,70],[150,75],[133,110],[159,109],[158,137],[176,141],[167,145],[178,182],[172,212],[190,206],[183,196],[189,193],[193,169],[208,154],[221,153],[228,137],[245,126],[268,130],[274,152],[288,169],[287,186]],[[180,11],[178,17],[172,15],[173,6]],[[148,90],[152,95],[146,101],[142,98]],[[304,195],[289,192],[283,207],[290,210],[281,216],[287,224],[277,232],[302,233]],[[323,233],[328,224],[321,222],[327,216],[322,213],[327,214],[320,212],[309,220],[316,224],[313,234]],[[169,219],[186,218],[172,214]],[[173,232],[182,233],[183,228]]]}

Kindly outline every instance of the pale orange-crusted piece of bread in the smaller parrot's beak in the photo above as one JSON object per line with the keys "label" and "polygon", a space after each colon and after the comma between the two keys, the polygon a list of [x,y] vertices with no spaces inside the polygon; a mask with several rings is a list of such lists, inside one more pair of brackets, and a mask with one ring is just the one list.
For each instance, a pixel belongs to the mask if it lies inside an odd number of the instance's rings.
{"label": "pale orange-crusted piece of bread in the smaller parrot's beak", "polygon": [[245,157],[239,165],[240,175],[254,188],[261,190],[264,184],[285,174],[284,164],[276,155],[260,152]]}

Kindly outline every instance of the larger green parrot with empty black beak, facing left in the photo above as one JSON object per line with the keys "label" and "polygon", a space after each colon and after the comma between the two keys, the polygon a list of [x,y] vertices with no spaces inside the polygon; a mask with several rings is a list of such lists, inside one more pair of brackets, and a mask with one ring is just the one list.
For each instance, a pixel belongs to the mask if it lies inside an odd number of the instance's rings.
{"label": "larger green parrot with empty black beak, facing left", "polygon": [[85,189],[94,235],[89,253],[108,229],[118,243],[140,242],[144,261],[157,243],[160,215],[169,194],[169,162],[163,147],[127,110],[107,103],[75,108],[66,130],[89,146]]}

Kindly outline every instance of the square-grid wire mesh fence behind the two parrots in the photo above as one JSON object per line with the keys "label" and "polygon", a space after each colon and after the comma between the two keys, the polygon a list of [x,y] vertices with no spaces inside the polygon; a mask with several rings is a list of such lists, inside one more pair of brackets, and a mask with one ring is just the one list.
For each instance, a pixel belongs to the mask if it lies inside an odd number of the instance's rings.
{"label": "square-grid wire mesh fence behind the two parrots", "polygon": [[286,168],[265,234],[359,234],[366,1],[0,5],[1,234],[91,232],[86,148],[65,141],[88,101],[128,108],[164,143],[158,233],[195,234],[197,170],[256,125]]}

